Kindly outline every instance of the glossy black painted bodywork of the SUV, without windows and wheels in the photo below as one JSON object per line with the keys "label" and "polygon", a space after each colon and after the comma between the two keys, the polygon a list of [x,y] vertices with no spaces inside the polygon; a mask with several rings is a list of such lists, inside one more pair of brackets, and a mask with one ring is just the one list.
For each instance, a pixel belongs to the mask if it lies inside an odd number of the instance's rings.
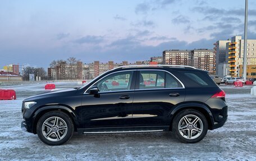
{"label": "glossy black painted bodywork of the SUV, without windows and wheels", "polygon": [[[143,70],[158,69],[156,67],[143,68]],[[90,86],[102,77],[112,72],[126,70],[135,71],[131,90],[100,92],[98,95],[86,93]],[[25,99],[24,102],[36,101],[36,104],[30,109],[25,109],[22,105],[24,121],[22,121],[21,126],[24,130],[36,134],[36,123],[40,116],[48,111],[60,110],[70,114],[75,123],[75,129],[79,132],[93,128],[124,127],[156,127],[157,129],[169,130],[175,114],[186,108],[198,109],[204,113],[208,119],[209,130],[221,127],[225,123],[227,119],[227,110],[223,110],[227,108],[225,99],[211,98],[214,93],[221,89],[217,85],[202,87],[194,82],[186,82],[187,80],[181,73],[194,70],[161,68],[161,70],[173,73],[184,84],[185,88],[153,90],[135,88],[135,81],[138,84],[138,79],[135,76],[137,70],[138,68],[125,68],[108,71],[83,88],[52,91]],[[199,72],[207,73],[205,71]],[[179,93],[179,96],[170,96],[172,93]],[[120,99],[120,96],[127,95],[129,98]],[[143,117],[143,115],[154,117]],[[222,119],[220,119],[220,115]]]}

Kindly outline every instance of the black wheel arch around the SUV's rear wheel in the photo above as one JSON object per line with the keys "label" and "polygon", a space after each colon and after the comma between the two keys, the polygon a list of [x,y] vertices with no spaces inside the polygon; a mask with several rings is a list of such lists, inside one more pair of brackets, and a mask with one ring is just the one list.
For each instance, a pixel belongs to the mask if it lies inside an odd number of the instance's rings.
{"label": "black wheel arch around the SUV's rear wheel", "polygon": [[211,130],[212,126],[214,125],[214,119],[212,116],[212,112],[209,110],[209,108],[207,107],[207,105],[203,104],[203,103],[185,103],[185,104],[181,104],[178,105],[177,107],[175,107],[171,114],[170,114],[170,131],[172,130],[172,121],[173,118],[181,111],[185,110],[185,109],[195,109],[196,111],[199,111],[201,113],[203,113],[203,115],[205,116],[205,118],[207,119],[208,122],[208,129]]}

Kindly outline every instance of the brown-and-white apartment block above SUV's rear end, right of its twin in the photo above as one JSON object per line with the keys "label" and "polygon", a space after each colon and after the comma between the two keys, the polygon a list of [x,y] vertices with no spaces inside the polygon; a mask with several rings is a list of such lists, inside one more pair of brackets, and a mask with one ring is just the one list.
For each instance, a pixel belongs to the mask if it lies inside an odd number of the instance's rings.
{"label": "brown-and-white apartment block above SUV's rear end, right of its twin", "polygon": [[193,66],[209,71],[210,75],[216,74],[216,57],[212,49],[192,50]]}

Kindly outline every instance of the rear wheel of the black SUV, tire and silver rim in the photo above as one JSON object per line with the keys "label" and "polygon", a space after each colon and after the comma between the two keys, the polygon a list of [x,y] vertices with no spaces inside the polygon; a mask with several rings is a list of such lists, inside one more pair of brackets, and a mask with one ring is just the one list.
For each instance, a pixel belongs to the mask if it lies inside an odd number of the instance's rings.
{"label": "rear wheel of the black SUV, tire and silver rim", "polygon": [[[186,123],[187,121],[189,123]],[[195,121],[194,125],[193,121]],[[185,109],[173,118],[172,131],[181,142],[195,143],[204,139],[208,131],[208,122],[201,112]]]}

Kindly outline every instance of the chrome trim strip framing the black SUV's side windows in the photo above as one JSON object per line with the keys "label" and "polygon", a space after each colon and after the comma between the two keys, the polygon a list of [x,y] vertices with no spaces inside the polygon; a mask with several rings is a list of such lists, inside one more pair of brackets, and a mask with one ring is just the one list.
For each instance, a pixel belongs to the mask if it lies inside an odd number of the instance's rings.
{"label": "chrome trim strip framing the black SUV's side windows", "polygon": [[[171,72],[169,71],[166,71],[166,70],[123,70],[123,71],[116,71],[116,72],[112,72],[112,73],[109,73],[108,75],[104,76],[104,77],[107,77],[113,73],[118,73],[118,72],[126,72],[126,71],[163,71],[163,72],[167,72],[169,73],[170,75],[172,75],[177,81],[180,82],[181,86],[180,88],[156,88],[156,89],[134,89],[134,90],[115,90],[115,91],[99,91],[99,94],[100,93],[113,93],[113,92],[123,92],[123,91],[140,91],[140,90],[165,90],[165,89],[185,89],[185,86],[184,84],[175,76],[173,75]],[[99,79],[98,81],[96,81],[93,85],[97,84],[97,82],[99,82],[100,80],[104,79],[104,77],[102,77],[101,79]],[[90,89],[93,85],[89,86],[88,89]],[[84,94],[89,94],[89,93],[86,93],[88,91],[88,89],[85,90]]]}

